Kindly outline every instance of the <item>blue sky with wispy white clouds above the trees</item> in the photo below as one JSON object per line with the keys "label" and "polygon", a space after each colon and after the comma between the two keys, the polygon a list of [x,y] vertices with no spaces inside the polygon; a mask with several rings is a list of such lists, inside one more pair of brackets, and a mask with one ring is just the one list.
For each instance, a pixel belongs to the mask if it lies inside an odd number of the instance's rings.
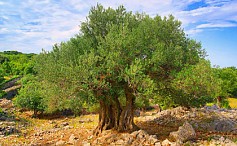
{"label": "blue sky with wispy white clouds above the trees", "polygon": [[0,0],[0,51],[39,53],[79,32],[97,3],[128,11],[174,15],[202,42],[212,65],[237,67],[237,0]]}

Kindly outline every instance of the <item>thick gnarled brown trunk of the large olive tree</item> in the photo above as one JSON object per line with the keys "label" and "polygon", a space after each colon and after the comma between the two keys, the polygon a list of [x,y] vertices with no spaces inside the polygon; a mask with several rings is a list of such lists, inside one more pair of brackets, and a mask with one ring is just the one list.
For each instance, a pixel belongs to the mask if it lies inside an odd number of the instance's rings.
{"label": "thick gnarled brown trunk of the large olive tree", "polygon": [[114,129],[120,132],[138,129],[134,124],[135,96],[130,88],[125,88],[126,105],[121,107],[118,97],[106,97],[100,100],[99,123],[94,134],[98,135],[103,130]]}

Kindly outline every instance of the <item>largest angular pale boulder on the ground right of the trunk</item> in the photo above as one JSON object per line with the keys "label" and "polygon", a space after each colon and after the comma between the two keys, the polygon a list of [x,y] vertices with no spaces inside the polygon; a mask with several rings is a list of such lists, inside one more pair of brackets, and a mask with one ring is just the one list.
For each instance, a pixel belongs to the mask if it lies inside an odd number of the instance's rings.
{"label": "largest angular pale boulder on the ground right of the trunk", "polygon": [[178,131],[170,133],[170,138],[175,141],[186,142],[188,140],[195,139],[196,132],[191,124],[185,122],[183,126],[179,127]]}

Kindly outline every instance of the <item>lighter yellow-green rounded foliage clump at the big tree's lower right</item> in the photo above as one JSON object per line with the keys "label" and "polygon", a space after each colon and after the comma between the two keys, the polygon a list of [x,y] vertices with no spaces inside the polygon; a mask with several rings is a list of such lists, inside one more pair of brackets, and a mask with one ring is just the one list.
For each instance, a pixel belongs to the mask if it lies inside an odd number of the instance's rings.
{"label": "lighter yellow-green rounded foliage clump at the big tree's lower right", "polygon": [[221,91],[220,81],[206,60],[179,72],[173,81],[173,88],[178,91],[176,95],[180,96],[176,103],[198,107],[213,101]]}

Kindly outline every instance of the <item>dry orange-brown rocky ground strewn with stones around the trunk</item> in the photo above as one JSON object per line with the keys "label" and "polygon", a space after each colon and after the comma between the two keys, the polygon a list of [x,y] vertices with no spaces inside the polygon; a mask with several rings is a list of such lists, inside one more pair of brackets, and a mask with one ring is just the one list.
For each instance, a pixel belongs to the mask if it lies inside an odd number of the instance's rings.
{"label": "dry orange-brown rocky ground strewn with stones around the trunk", "polygon": [[141,130],[132,133],[108,130],[98,137],[92,134],[98,115],[34,119],[31,112],[18,112],[10,100],[0,99],[0,107],[0,145],[4,146],[237,145],[237,110],[216,106],[140,112],[135,123]]}

